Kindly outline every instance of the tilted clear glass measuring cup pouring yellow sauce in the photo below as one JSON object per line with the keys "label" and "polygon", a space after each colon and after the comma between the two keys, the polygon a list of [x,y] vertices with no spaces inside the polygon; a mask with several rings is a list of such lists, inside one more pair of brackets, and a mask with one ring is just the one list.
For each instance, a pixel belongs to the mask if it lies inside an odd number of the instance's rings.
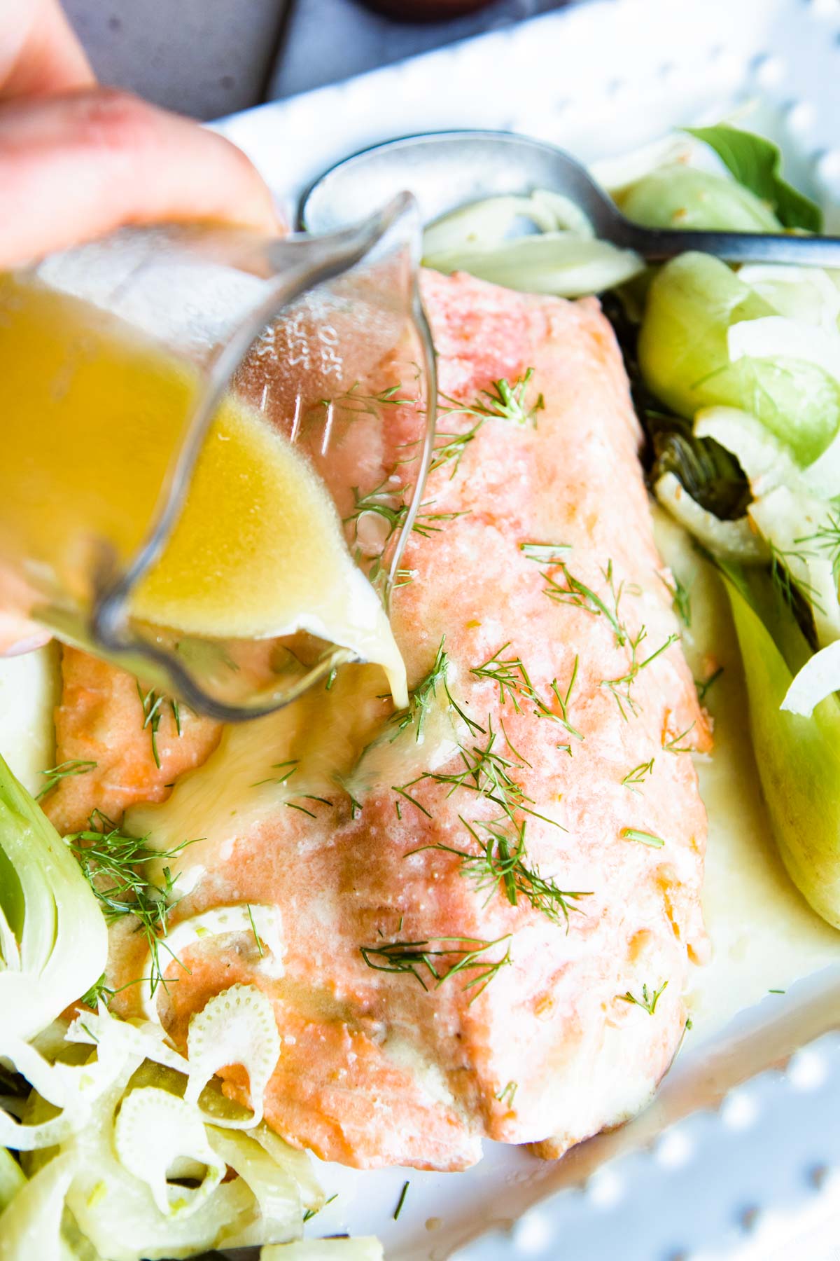
{"label": "tilted clear glass measuring cup pouring yellow sauce", "polygon": [[404,702],[418,255],[404,194],[326,237],[126,230],[0,277],[0,604],[223,720],[354,660]]}

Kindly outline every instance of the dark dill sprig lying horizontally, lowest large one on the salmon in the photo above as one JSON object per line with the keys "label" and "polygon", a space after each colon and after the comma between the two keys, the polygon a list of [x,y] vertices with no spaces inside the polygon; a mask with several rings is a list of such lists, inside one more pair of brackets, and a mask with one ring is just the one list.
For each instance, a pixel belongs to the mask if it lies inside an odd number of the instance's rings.
{"label": "dark dill sprig lying horizontally, lowest large one on the salmon", "polygon": [[[495,946],[508,942],[508,948],[501,958],[487,960],[482,956]],[[413,976],[424,990],[429,986],[437,990],[450,977],[461,972],[475,971],[475,976],[466,981],[465,990],[475,990],[470,999],[470,1006],[479,999],[490,982],[499,975],[502,967],[513,963],[510,957],[510,933],[496,937],[495,941],[484,941],[480,937],[432,937],[417,942],[388,942],[385,946],[360,946],[359,952],[368,967],[377,972],[398,972]],[[446,968],[446,971],[442,971]]]}

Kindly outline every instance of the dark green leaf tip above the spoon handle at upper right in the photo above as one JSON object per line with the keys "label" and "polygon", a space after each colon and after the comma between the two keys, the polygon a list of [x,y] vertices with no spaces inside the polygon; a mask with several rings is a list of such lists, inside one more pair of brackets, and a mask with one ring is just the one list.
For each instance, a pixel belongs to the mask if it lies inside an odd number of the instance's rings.
{"label": "dark green leaf tip above the spoon handle at upper right", "polygon": [[822,211],[816,202],[782,179],[782,154],[772,140],[723,122],[683,130],[714,149],[738,183],[767,202],[786,228],[822,231]]}

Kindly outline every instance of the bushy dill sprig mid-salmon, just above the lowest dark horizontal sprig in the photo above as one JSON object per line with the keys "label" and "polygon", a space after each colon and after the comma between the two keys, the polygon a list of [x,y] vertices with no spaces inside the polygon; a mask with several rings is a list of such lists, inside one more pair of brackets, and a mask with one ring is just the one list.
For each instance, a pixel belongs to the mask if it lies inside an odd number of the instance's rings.
{"label": "bushy dill sprig mid-salmon, just above the lowest dark horizontal sprig", "polygon": [[[569,910],[581,910],[581,907],[569,905],[569,900],[577,898],[589,898],[592,892],[559,889],[553,879],[540,875],[539,868],[529,865],[525,851],[525,823],[513,825],[510,820],[491,820],[490,822],[477,822],[471,825],[466,818],[458,816],[467,832],[477,846],[477,852],[460,850],[453,845],[421,845],[411,854],[419,854],[423,850],[441,850],[445,854],[455,854],[461,859],[461,875],[475,880],[479,890],[489,889],[489,902],[500,890],[505,893],[511,907],[518,905],[519,895],[524,897],[535,910],[540,910],[553,923],[559,923],[563,918],[567,929],[569,924]],[[487,835],[480,836],[476,828],[482,828]],[[408,857],[408,855],[406,855]],[[485,902],[485,905],[486,905]]]}

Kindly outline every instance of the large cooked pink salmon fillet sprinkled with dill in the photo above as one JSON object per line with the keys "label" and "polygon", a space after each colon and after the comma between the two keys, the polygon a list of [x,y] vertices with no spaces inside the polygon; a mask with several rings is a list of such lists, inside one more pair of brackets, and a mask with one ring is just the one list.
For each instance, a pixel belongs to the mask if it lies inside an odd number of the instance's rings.
{"label": "large cooked pink salmon fillet sprinkled with dill", "polygon": [[[412,533],[393,623],[414,686],[445,646],[460,748],[436,760],[417,741],[413,769],[392,768],[355,805],[332,791],[310,813],[225,812],[213,827],[199,812],[194,835],[208,840],[185,851],[196,880],[178,917],[273,903],[285,971],[261,971],[246,942],[200,942],[160,1004],[184,1042],[212,994],[259,985],[282,1038],[268,1121],[361,1168],[461,1169],[482,1137],[559,1155],[627,1119],[670,1064],[689,960],[705,951],[689,750],[708,749],[709,731],[612,330],[594,300],[463,275],[427,274],[423,296],[438,446],[474,431],[429,478],[438,526]],[[453,410],[501,378],[523,383],[535,425]],[[365,704],[382,721],[384,702]],[[304,741],[314,719],[300,712]],[[270,764],[288,757],[261,731]],[[170,806],[219,782],[224,752]],[[481,874],[494,835],[520,863],[508,883],[492,864]],[[116,980],[140,966],[135,947]],[[223,1076],[247,1102],[242,1073]]]}

